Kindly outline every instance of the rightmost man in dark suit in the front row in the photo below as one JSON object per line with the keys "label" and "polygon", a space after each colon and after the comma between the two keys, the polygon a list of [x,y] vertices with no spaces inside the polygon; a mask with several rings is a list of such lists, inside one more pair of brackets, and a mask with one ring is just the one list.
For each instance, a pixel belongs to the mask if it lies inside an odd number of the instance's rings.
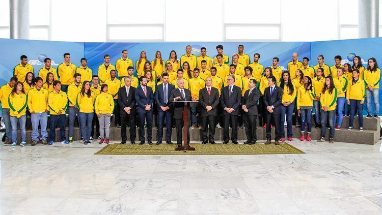
{"label": "rightmost man in dark suit in the front row", "polygon": [[[280,105],[283,98],[283,90],[276,85],[276,78],[275,76],[268,77],[268,87],[264,90],[264,96],[263,101],[265,105],[265,119],[266,124],[270,125],[271,118],[273,117],[275,120],[275,144],[280,145]],[[263,114],[264,116],[264,114]],[[270,137],[270,126],[266,127],[266,142],[265,144],[270,144],[271,137]]]}

